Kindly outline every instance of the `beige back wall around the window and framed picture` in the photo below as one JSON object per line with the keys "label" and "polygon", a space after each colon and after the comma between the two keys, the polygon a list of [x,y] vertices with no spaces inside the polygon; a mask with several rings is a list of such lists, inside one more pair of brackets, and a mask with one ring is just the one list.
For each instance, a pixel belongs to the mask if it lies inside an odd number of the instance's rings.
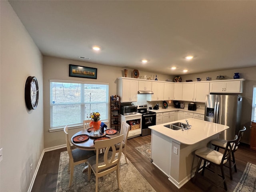
{"label": "beige back wall around the window and framed picture", "polygon": [[[124,76],[124,68],[104,66],[100,64],[92,64],[62,58],[55,58],[44,56],[44,148],[50,148],[58,145],[65,144],[65,138],[63,131],[49,132],[50,128],[50,79],[58,80],[74,80],[74,81],[84,81],[84,82],[108,82],[109,83],[109,95],[116,95],[118,93],[118,77]],[[77,78],[69,77],[69,64],[74,64],[78,66],[87,66],[98,69],[97,79],[88,78]],[[132,76],[133,69],[128,69],[128,76]],[[140,78],[144,75],[147,77],[156,76],[158,80],[165,81],[170,79],[170,76],[154,74],[150,72],[139,71]],[[70,135],[78,132],[81,129],[70,130]]]}

